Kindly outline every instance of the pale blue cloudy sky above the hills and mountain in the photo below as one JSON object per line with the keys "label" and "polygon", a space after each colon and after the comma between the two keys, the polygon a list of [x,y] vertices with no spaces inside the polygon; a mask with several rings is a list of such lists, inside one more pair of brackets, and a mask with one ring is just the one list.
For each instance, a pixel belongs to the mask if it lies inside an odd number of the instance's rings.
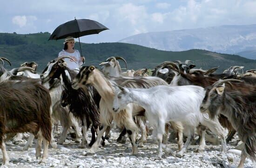
{"label": "pale blue cloudy sky above the hills and mountain", "polygon": [[117,42],[140,33],[256,24],[256,0],[0,0],[0,32],[50,32],[69,20],[109,28],[84,43]]}

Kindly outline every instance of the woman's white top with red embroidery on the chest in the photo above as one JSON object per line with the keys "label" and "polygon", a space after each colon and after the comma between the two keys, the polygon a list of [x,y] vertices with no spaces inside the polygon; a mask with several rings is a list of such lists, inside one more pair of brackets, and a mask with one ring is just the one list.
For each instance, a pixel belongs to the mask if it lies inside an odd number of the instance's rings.
{"label": "woman's white top with red embroidery on the chest", "polygon": [[59,52],[58,57],[60,57],[60,56],[70,56],[71,58],[73,58],[75,60],[75,62],[74,62],[72,59],[69,59],[69,58],[63,59],[65,62],[67,62],[67,68],[69,68],[69,69],[79,70],[79,66],[81,66],[83,64],[78,50],[74,50],[73,53],[69,53],[65,50],[62,50],[61,52]]}

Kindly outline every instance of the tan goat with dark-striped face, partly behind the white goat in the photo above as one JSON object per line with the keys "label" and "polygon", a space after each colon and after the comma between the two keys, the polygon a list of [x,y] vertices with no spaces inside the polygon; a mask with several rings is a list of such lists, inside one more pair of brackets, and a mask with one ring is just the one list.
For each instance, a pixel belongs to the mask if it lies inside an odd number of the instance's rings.
{"label": "tan goat with dark-striped face, partly behind the white goat", "polygon": [[[130,80],[121,78],[121,80],[122,83],[124,82],[124,85],[129,87],[152,87],[156,85],[167,85],[165,81],[156,77],[135,78]],[[94,153],[95,149],[99,147],[99,136],[103,135],[107,126],[110,126],[112,120],[114,119],[117,125],[124,126],[127,129],[128,137],[132,144],[132,155],[136,155],[138,153],[138,148],[135,144],[135,132],[137,131],[137,126],[133,120],[133,115],[137,115],[144,109],[141,108],[141,106],[129,104],[122,112],[115,113],[113,111],[112,104],[115,96],[116,82],[109,80],[94,66],[82,67],[76,78],[74,78],[72,87],[74,89],[87,89],[87,85],[92,85],[101,95],[100,120],[102,124],[96,142],[88,152]],[[180,127],[177,129],[180,129]]]}

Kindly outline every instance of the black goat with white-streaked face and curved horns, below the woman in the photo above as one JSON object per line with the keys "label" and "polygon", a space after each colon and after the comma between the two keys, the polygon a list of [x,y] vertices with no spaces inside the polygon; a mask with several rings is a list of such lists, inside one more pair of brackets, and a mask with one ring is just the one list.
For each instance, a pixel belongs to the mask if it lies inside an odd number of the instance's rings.
{"label": "black goat with white-streaked face and curved horns, below the woman", "polygon": [[[69,111],[72,112],[76,118],[81,119],[83,133],[81,147],[85,148],[87,144],[86,132],[89,125],[92,124],[92,140],[89,146],[94,143],[95,131],[97,131],[101,125],[99,122],[100,113],[97,106],[99,103],[95,102],[99,102],[100,95],[94,92],[92,87],[88,89],[89,94],[86,94],[82,89],[73,89],[71,87],[71,81],[77,73],[78,71],[67,68],[66,62],[64,62],[61,57],[58,57],[53,60],[51,66],[48,66],[47,70],[43,72],[41,80],[43,82],[54,81],[56,79],[61,81],[64,87],[61,104],[64,106],[69,105]],[[50,82],[50,87],[51,86],[52,84]],[[102,139],[104,144],[104,137],[102,137]]]}

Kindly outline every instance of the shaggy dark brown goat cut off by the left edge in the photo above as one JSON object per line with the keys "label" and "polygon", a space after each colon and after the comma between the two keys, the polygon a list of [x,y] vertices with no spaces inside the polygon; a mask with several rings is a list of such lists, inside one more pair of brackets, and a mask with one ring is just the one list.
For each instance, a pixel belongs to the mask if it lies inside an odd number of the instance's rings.
{"label": "shaggy dark brown goat cut off by the left edge", "polygon": [[32,79],[2,82],[0,88],[0,148],[3,153],[3,165],[9,164],[4,134],[19,132],[30,132],[38,137],[37,158],[41,156],[43,141],[44,151],[40,162],[45,162],[52,127],[49,92],[38,80]]}

